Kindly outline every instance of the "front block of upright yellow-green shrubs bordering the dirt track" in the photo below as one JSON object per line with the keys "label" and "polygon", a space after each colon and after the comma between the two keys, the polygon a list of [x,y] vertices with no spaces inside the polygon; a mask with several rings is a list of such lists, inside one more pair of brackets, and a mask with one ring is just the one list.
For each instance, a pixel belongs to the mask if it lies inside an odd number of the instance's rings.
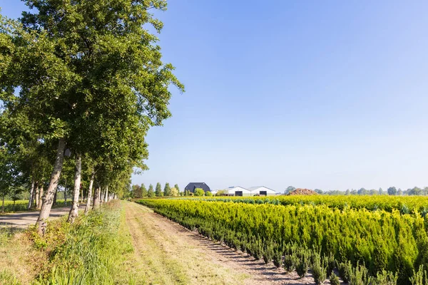
{"label": "front block of upright yellow-green shrubs bordering the dirt track", "polygon": [[[366,276],[362,277],[367,279],[364,284],[375,284],[373,278],[388,278],[387,284],[412,284],[414,272],[418,272],[419,266],[427,266],[427,220],[418,213],[199,199],[144,199],[140,203],[255,258],[276,264],[281,258],[285,260],[284,266],[292,259],[295,269],[296,260],[301,261],[302,257],[287,254],[292,244],[310,249],[322,260],[325,256],[334,257],[337,269],[343,267],[340,264],[348,264],[352,274]],[[342,279],[351,281],[352,274],[342,274]]]}

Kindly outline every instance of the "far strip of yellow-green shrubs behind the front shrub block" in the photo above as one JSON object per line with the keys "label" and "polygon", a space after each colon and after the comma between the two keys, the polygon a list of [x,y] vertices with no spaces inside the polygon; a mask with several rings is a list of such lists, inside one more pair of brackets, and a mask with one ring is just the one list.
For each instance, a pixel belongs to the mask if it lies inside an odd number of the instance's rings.
{"label": "far strip of yellow-green shrubs behind the front shrub block", "polygon": [[368,209],[370,211],[398,210],[402,214],[417,211],[425,216],[428,213],[428,197],[422,196],[327,196],[293,195],[279,197],[218,197],[205,199],[210,202],[234,202],[244,204],[275,204],[282,206],[310,204],[327,205],[337,209]]}

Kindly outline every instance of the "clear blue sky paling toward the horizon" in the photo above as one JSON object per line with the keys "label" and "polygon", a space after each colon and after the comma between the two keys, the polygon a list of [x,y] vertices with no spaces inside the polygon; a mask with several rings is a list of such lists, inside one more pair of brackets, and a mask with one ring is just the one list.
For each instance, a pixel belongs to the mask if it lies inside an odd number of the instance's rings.
{"label": "clear blue sky paling toward the horizon", "polygon": [[[18,0],[0,0],[19,17]],[[428,1],[169,1],[173,117],[133,184],[428,186]]]}

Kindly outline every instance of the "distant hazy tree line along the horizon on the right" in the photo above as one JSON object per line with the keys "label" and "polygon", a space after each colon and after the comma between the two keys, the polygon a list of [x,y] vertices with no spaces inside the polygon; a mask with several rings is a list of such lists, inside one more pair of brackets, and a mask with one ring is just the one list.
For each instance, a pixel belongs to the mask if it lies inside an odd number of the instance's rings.
{"label": "distant hazy tree line along the horizon on the right", "polygon": [[[288,194],[289,192],[294,191],[296,188],[293,186],[287,187],[284,194]],[[401,190],[400,188],[396,187],[389,187],[387,191],[382,190],[382,188],[379,188],[379,190],[366,190],[365,188],[360,188],[359,190],[347,189],[346,191],[340,191],[340,190],[330,190],[330,191],[322,191],[320,189],[315,189],[315,192],[321,195],[398,195],[398,196],[405,196],[405,195],[428,195],[428,187],[419,188],[419,187],[413,187],[409,188],[407,190]]]}

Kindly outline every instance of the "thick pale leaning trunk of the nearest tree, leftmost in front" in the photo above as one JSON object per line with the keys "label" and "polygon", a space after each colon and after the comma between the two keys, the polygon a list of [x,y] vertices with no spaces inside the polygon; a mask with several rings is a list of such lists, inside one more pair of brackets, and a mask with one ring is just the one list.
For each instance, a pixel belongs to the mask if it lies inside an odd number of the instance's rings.
{"label": "thick pale leaning trunk of the nearest tree, leftmost in front", "polygon": [[49,180],[49,186],[44,196],[44,203],[41,205],[39,219],[37,219],[37,229],[40,235],[44,235],[46,232],[46,220],[51,213],[52,202],[54,200],[54,191],[58,185],[59,177],[64,162],[64,150],[66,148],[66,139],[60,138],[58,141],[58,150],[56,152],[56,159],[54,163],[54,170],[51,174],[51,180]]}

